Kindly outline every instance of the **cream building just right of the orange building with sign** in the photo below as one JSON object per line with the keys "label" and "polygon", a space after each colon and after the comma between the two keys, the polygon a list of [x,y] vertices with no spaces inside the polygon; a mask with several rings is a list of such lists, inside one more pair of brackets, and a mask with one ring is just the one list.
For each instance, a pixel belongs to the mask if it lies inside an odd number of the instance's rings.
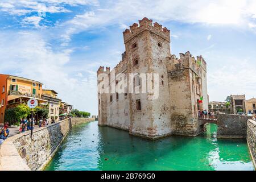
{"label": "cream building just right of the orange building with sign", "polygon": [[61,99],[57,98],[57,92],[54,90],[43,89],[42,98],[48,101],[49,118],[59,121]]}

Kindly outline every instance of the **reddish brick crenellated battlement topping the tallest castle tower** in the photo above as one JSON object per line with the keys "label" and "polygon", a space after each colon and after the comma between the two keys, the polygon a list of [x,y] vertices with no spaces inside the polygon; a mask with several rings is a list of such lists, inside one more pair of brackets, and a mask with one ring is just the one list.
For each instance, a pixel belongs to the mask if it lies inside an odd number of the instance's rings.
{"label": "reddish brick crenellated battlement topping the tallest castle tower", "polygon": [[139,20],[139,24],[134,23],[132,26],[130,26],[130,30],[126,29],[123,32],[123,39],[125,44],[129,42],[129,40],[131,40],[134,36],[137,36],[145,30],[153,32],[154,34],[170,42],[170,30],[168,30],[166,27],[162,28],[162,25],[157,22],[152,24],[152,20],[145,17],[142,20]]}

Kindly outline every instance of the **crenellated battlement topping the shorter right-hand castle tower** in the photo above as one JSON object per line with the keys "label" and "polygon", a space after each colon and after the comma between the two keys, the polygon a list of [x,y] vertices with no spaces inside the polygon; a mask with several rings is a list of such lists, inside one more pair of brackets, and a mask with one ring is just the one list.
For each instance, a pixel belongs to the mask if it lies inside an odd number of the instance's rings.
{"label": "crenellated battlement topping the shorter right-hand castle tower", "polygon": [[191,68],[197,75],[201,75],[201,69],[206,69],[206,62],[202,56],[197,56],[196,59],[191,55],[189,51],[185,53],[179,53],[180,58],[176,55],[167,57],[167,69],[168,71],[176,71],[177,69]]}

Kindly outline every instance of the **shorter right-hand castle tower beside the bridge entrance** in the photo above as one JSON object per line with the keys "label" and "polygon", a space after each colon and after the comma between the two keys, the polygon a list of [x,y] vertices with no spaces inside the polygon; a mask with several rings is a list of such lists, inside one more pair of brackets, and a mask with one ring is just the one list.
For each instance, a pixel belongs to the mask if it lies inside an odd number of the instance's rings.
{"label": "shorter right-hand castle tower beside the bridge entrance", "polygon": [[173,134],[196,136],[204,131],[198,111],[208,110],[205,65],[203,57],[195,59],[189,51],[180,53],[180,59],[175,55],[167,57]]}

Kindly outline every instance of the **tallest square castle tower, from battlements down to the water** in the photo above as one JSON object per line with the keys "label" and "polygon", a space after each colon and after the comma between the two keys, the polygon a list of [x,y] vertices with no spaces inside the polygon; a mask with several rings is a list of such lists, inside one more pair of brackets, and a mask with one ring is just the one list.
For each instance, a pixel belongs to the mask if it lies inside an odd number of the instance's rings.
{"label": "tallest square castle tower, from battlements down to the water", "polygon": [[[159,23],[143,18],[123,32],[127,73],[156,73],[159,92],[155,99],[150,93],[129,94],[130,134],[159,138],[171,133],[168,73],[165,57],[170,56],[170,31]],[[156,81],[156,80],[155,80]],[[140,87],[144,81],[140,81]],[[158,89],[157,88],[157,89]],[[131,89],[131,88],[129,88]],[[129,92],[130,93],[130,92]],[[138,108],[139,102],[139,108]]]}

